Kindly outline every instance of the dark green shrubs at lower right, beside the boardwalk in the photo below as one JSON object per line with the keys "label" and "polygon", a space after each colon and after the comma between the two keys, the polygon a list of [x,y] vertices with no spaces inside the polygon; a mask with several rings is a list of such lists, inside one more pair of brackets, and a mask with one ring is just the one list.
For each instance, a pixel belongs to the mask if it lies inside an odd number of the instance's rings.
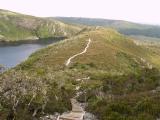
{"label": "dark green shrubs at lower right, beside the boardwalk", "polygon": [[[100,120],[156,120],[160,117],[160,94],[156,90],[160,86],[159,75],[155,68],[145,68],[138,74],[103,75],[99,77],[103,89],[96,88],[92,96],[90,92],[86,95],[87,110]],[[103,95],[97,96],[97,91]]]}

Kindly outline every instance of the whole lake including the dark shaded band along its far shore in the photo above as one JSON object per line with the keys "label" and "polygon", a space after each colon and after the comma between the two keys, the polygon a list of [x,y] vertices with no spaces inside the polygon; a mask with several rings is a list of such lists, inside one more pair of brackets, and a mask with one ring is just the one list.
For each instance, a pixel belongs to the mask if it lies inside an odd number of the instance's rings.
{"label": "whole lake including the dark shaded band along its far shore", "polygon": [[[30,41],[0,42],[0,64],[3,68],[13,68],[26,60],[32,53],[47,45],[54,44],[65,37],[47,38]],[[4,69],[0,70],[0,73]]]}

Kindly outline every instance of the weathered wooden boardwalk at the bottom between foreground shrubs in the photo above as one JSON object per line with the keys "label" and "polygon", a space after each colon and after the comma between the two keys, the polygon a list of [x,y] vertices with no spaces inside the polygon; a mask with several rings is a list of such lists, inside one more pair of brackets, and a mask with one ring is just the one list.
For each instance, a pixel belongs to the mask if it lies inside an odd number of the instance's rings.
{"label": "weathered wooden boardwalk at the bottom between foreground shrubs", "polygon": [[57,120],[83,120],[84,110],[76,99],[71,99],[72,111],[69,113],[64,113],[57,118]]}

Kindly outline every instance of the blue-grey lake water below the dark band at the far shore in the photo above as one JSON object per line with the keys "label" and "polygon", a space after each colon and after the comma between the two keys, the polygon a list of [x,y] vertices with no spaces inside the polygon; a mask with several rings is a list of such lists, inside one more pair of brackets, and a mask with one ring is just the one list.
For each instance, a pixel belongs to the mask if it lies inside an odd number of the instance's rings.
{"label": "blue-grey lake water below the dark band at the far shore", "polygon": [[[57,41],[54,41],[57,42]],[[17,45],[0,45],[0,64],[5,68],[15,67],[26,60],[36,50],[43,48],[52,42],[47,43],[21,43]]]}

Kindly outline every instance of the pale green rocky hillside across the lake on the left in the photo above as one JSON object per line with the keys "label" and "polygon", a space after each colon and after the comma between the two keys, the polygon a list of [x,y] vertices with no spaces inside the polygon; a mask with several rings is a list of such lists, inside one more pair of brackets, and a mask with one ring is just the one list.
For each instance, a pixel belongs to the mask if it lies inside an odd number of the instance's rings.
{"label": "pale green rocky hillside across the lake on the left", "polygon": [[57,20],[0,10],[0,41],[70,37],[80,30],[78,26],[64,24]]}

